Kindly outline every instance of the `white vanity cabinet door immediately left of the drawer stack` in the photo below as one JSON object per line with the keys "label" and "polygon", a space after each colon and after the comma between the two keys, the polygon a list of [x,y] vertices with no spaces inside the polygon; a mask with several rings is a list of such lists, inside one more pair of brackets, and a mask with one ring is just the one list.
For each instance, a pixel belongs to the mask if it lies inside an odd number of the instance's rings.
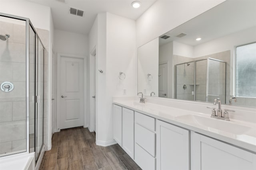
{"label": "white vanity cabinet door immediately left of the drawer stack", "polygon": [[134,111],[123,107],[122,148],[134,159]]}

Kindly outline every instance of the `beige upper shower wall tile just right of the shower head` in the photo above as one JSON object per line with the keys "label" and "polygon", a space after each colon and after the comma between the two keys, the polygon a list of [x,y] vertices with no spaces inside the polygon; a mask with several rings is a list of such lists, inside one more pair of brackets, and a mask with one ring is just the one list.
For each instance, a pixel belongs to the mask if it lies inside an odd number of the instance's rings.
{"label": "beige upper shower wall tile just right of the shower head", "polygon": [[13,24],[13,42],[26,44],[26,26]]}

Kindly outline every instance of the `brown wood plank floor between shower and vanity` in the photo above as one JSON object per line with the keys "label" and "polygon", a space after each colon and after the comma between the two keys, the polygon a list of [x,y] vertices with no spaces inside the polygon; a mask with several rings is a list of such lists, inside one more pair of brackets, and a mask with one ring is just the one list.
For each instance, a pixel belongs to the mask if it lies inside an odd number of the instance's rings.
{"label": "brown wood plank floor between shower and vanity", "polygon": [[40,170],[141,170],[118,145],[95,144],[95,133],[73,128],[54,133],[52,149],[44,152]]}

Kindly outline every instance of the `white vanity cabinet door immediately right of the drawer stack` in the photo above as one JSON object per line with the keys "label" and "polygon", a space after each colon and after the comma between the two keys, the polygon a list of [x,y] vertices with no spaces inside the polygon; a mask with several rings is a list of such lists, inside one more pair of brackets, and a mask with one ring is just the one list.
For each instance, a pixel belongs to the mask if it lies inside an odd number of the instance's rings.
{"label": "white vanity cabinet door immediately right of the drawer stack", "polygon": [[189,170],[189,131],[156,120],[156,169]]}

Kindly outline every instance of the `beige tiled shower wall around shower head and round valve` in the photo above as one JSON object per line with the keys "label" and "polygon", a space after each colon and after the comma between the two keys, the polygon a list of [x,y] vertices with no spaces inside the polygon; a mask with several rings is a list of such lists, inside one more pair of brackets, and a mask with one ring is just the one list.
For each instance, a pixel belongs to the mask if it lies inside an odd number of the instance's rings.
{"label": "beige tiled shower wall around shower head and round valve", "polygon": [[0,21],[0,83],[9,81],[14,90],[0,90],[0,155],[26,150],[26,27]]}

